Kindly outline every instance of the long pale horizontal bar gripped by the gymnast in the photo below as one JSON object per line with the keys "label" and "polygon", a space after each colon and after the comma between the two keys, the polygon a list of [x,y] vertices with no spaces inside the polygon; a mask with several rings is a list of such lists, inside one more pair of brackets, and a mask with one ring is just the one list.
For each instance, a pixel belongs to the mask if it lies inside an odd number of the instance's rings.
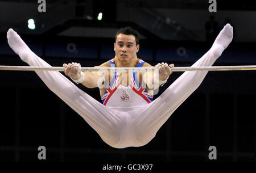
{"label": "long pale horizontal bar gripped by the gymnast", "polygon": [[[64,71],[65,67],[41,67],[41,66],[4,66],[0,65],[0,70],[17,70],[17,71]],[[143,71],[156,70],[157,67],[81,67],[81,71]],[[256,70],[256,65],[244,66],[201,66],[201,67],[171,67],[172,71],[231,71],[231,70]]]}

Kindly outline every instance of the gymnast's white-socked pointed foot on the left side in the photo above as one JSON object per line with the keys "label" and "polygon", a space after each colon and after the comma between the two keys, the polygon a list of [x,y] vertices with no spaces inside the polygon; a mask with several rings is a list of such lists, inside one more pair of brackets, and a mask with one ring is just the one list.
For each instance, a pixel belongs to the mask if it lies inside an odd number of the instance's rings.
{"label": "gymnast's white-socked pointed foot on the left side", "polygon": [[28,61],[30,61],[30,57],[32,57],[34,53],[30,50],[30,48],[28,48],[18,33],[16,33],[13,29],[9,29],[7,32],[7,39],[8,44],[14,50],[14,52],[19,55],[22,61],[28,63]]}

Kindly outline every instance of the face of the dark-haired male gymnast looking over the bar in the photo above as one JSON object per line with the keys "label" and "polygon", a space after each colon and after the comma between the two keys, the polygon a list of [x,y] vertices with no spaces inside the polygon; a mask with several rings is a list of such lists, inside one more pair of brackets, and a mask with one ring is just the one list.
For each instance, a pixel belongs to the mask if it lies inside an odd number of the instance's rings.
{"label": "face of the dark-haired male gymnast looking over the bar", "polygon": [[139,45],[136,45],[134,35],[124,35],[119,33],[114,43],[115,56],[121,62],[130,62],[137,58],[136,53],[139,51]]}

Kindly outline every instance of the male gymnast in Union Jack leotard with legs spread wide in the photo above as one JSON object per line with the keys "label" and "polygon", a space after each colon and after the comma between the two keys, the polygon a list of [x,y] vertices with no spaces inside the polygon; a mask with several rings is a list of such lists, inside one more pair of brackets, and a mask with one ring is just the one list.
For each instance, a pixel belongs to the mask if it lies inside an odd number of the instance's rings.
{"label": "male gymnast in Union Jack leotard with legs spread wide", "polygon": [[[10,47],[30,66],[51,67],[27,47],[13,29],[7,32]],[[192,67],[212,66],[233,39],[230,24],[220,31],[212,47]],[[115,57],[96,67],[153,67],[137,57],[138,32],[133,28],[121,28],[115,35]],[[59,71],[35,71],[46,86],[76,111],[101,137],[114,148],[146,145],[156,132],[189,95],[200,86],[208,71],[185,71],[157,99],[153,101],[155,88],[166,83],[172,70],[166,63],[154,67],[149,73],[96,73],[81,71],[80,64],[63,64],[65,75],[85,87],[100,88],[102,103],[80,90]],[[106,75],[108,74],[108,75]],[[143,87],[143,83],[146,87]],[[105,85],[107,87],[102,87]],[[101,86],[101,87],[100,87]],[[155,86],[155,85],[154,85]]]}

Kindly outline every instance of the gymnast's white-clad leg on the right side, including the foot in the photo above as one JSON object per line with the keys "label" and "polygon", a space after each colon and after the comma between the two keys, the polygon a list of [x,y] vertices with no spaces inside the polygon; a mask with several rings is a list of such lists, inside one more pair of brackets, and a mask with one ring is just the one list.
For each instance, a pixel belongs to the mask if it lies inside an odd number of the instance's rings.
{"label": "gymnast's white-clad leg on the right side, including the foot", "polygon": [[[230,24],[222,29],[210,50],[192,67],[212,66],[233,39],[233,27]],[[147,144],[154,138],[159,128],[167,121],[181,103],[191,95],[207,75],[208,71],[186,71],[156,100],[148,104],[142,112],[134,116],[134,128],[138,139]],[[135,115],[136,112],[130,112]]]}

